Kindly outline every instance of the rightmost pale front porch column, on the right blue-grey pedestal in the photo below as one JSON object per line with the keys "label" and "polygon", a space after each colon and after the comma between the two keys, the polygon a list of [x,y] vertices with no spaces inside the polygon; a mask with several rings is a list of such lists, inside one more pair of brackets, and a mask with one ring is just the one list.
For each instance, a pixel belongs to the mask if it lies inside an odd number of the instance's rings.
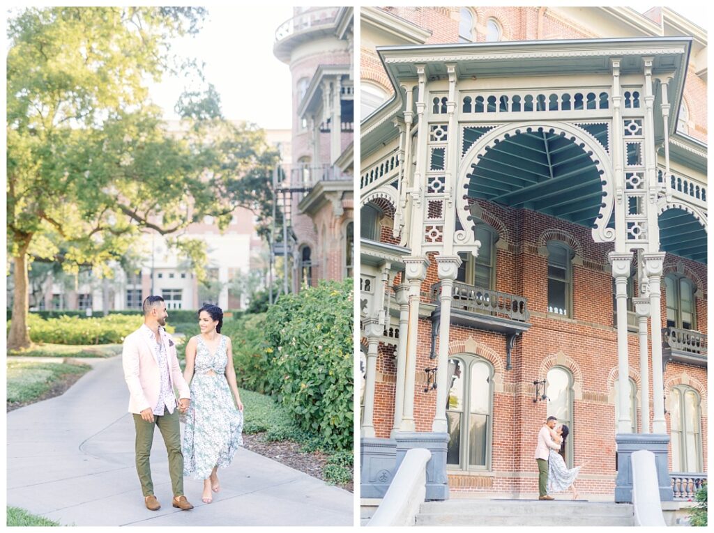
{"label": "rightmost pale front porch column, on the right blue-grey pedestal", "polygon": [[665,259],[664,252],[644,253],[645,273],[650,287],[650,316],[652,342],[652,432],[667,433],[664,405],[664,381],[662,375],[662,314],[660,312],[660,282]]}

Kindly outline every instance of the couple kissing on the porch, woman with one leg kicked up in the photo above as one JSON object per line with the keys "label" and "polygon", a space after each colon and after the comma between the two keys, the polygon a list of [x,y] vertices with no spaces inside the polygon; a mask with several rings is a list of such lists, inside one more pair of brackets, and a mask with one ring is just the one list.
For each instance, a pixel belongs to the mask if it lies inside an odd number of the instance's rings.
{"label": "couple kissing on the porch, woman with one leg kicked up", "polygon": [[557,425],[557,422],[557,418],[548,417],[538,432],[538,446],[535,447],[538,499],[554,499],[548,492],[563,492],[568,488],[573,492],[573,499],[578,499],[575,478],[586,463],[570,469],[565,466],[565,438],[570,430],[565,424]]}

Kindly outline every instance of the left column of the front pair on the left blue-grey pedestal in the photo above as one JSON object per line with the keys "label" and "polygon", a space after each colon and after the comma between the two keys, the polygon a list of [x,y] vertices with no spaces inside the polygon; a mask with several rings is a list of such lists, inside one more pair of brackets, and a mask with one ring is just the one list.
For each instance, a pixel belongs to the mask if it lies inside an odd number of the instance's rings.
{"label": "left column of the front pair on the left blue-grey pedestal", "polygon": [[[404,402],[400,432],[413,432],[414,424],[414,392],[416,385],[416,349],[418,344],[417,330],[419,326],[419,298],[421,282],[426,278],[428,261],[425,258],[409,257],[404,259],[405,275],[409,283],[409,316],[406,333],[406,361],[404,378]],[[401,336],[401,335],[400,335]]]}

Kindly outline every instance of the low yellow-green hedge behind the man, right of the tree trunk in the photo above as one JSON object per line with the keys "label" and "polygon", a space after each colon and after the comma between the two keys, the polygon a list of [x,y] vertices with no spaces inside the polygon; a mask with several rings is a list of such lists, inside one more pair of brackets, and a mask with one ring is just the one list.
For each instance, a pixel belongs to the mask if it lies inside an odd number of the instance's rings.
{"label": "low yellow-green hedge behind the man, right of the tree trunk", "polygon": [[[139,329],[143,323],[144,317],[141,315],[109,315],[100,318],[62,316],[48,320],[29,315],[27,318],[32,342],[71,345],[123,342],[126,335]],[[7,327],[9,330],[9,322]],[[174,328],[167,325],[166,330],[173,333]]]}

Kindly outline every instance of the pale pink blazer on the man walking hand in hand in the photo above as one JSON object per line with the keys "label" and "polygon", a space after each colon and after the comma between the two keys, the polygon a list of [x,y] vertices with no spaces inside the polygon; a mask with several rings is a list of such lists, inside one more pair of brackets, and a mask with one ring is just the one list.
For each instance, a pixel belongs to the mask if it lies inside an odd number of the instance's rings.
{"label": "pale pink blazer on the man walking hand in hand", "polygon": [[[176,344],[164,330],[161,330],[161,340],[169,360],[171,386],[174,390],[178,389],[179,398],[191,398],[188,384],[183,379],[181,367],[178,366]],[[161,375],[159,363],[151,347],[151,339],[143,326],[124,339],[121,364],[124,367],[126,385],[129,387],[129,412],[139,415],[145,409],[154,409],[159,402]]]}

